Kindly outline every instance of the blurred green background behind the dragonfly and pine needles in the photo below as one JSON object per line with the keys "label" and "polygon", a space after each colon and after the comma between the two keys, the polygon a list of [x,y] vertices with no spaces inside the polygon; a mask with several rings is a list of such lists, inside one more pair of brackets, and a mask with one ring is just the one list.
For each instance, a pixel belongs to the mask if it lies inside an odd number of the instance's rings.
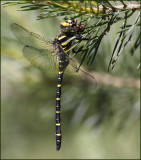
{"label": "blurred green background behind the dragonfly and pine needles", "polygon": [[[62,148],[55,146],[57,75],[33,68],[10,30],[11,23],[54,39],[62,17],[36,20],[37,11],[1,10],[1,116],[4,159],[139,159],[140,92],[138,88],[98,84],[96,89],[64,84],[62,91]],[[135,15],[136,16],[136,15]],[[131,21],[134,20],[131,19]],[[131,22],[130,21],[130,22]],[[93,66],[107,73],[120,24],[105,36]],[[136,31],[138,35],[140,30]],[[135,35],[135,36],[136,36]],[[108,39],[108,40],[107,40]],[[131,42],[109,74],[139,80],[140,50],[129,54]],[[95,77],[97,79],[97,77]]]}

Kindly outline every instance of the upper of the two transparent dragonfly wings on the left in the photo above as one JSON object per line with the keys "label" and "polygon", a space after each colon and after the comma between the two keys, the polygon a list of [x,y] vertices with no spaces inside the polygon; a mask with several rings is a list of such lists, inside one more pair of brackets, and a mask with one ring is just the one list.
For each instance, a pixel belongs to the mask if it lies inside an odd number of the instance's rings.
{"label": "upper of the two transparent dragonfly wings on the left", "polygon": [[16,24],[11,24],[11,30],[16,38],[24,45],[33,46],[39,49],[53,49],[52,42],[47,41],[44,37],[30,32],[26,28]]}

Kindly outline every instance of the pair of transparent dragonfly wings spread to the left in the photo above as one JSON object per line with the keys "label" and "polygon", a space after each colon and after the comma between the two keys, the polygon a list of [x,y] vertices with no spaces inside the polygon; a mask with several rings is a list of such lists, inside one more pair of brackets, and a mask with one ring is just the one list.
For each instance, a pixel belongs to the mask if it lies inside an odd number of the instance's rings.
{"label": "pair of transparent dragonfly wings spread to the left", "polygon": [[57,68],[56,54],[52,42],[13,23],[11,30],[16,38],[25,45],[23,55],[37,68],[54,71]]}

